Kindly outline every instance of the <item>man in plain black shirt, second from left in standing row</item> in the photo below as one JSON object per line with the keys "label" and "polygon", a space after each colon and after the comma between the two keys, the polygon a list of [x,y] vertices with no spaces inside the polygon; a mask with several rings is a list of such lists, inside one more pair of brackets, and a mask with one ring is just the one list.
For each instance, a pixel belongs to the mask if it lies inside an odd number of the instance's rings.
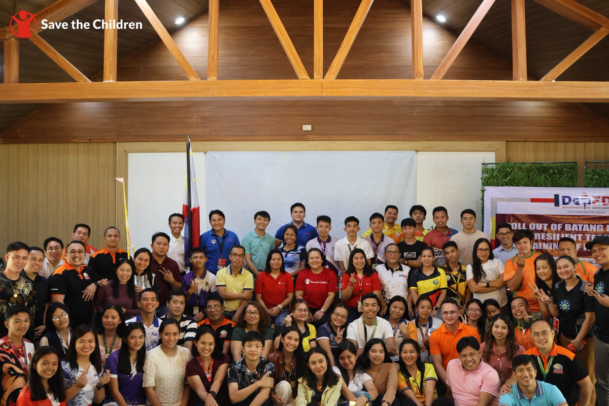
{"label": "man in plain black shirt, second from left in standing row", "polygon": [[27,257],[26,267],[19,275],[32,282],[34,289],[34,313],[28,336],[32,335],[34,340],[40,340],[44,334],[44,309],[49,306],[51,298],[49,296],[49,281],[40,275],[44,264],[44,251],[42,248],[30,247]]}

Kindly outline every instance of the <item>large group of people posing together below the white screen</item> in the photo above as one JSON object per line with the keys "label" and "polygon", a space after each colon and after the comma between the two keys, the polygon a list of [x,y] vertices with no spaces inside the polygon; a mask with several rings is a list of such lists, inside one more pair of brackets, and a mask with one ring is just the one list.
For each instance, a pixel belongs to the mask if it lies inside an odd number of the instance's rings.
{"label": "large group of people posing together below the white screen", "polygon": [[274,236],[256,212],[241,240],[220,210],[185,250],[181,214],[150,250],[13,242],[0,274],[0,406],[609,405],[609,236],[533,234],[476,212],[415,205],[331,236],[305,206]]}

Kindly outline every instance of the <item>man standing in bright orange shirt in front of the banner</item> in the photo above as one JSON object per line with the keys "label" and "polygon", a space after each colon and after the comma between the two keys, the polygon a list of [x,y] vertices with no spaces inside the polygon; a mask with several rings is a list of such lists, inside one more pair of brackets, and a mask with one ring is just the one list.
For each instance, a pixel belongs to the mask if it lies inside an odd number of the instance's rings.
{"label": "man standing in bright orange shirt in front of the banner", "polygon": [[513,236],[518,254],[505,264],[503,280],[514,297],[527,299],[531,313],[539,313],[539,303],[532,286],[535,285],[535,258],[540,253],[532,251],[533,232],[527,229],[516,231]]}

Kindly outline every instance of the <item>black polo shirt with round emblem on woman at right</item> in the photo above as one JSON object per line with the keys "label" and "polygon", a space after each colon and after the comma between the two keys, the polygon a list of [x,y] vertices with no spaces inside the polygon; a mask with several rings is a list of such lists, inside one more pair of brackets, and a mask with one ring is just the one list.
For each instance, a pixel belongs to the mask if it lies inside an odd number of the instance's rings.
{"label": "black polo shirt with round emblem on woman at right", "polygon": [[[579,279],[579,277],[578,277]],[[594,312],[594,299],[586,295],[583,287],[588,282],[581,279],[571,290],[566,289],[565,281],[559,281],[554,285],[552,299],[558,306],[558,320],[560,320],[560,332],[565,337],[573,338],[579,334],[583,322],[586,320],[585,312]],[[590,337],[590,333],[586,337]]]}

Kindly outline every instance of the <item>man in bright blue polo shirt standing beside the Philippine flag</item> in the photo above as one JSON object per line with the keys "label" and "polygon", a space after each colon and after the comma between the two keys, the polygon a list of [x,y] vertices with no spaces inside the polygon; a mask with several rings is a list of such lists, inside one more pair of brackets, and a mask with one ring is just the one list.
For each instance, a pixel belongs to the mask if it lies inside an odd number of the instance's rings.
{"label": "man in bright blue polo shirt standing beside the Philippine flag", "polygon": [[217,271],[230,265],[230,251],[239,245],[239,237],[233,231],[224,228],[227,220],[221,210],[209,212],[211,229],[201,234],[199,247],[205,250],[207,262],[205,268],[216,275]]}

